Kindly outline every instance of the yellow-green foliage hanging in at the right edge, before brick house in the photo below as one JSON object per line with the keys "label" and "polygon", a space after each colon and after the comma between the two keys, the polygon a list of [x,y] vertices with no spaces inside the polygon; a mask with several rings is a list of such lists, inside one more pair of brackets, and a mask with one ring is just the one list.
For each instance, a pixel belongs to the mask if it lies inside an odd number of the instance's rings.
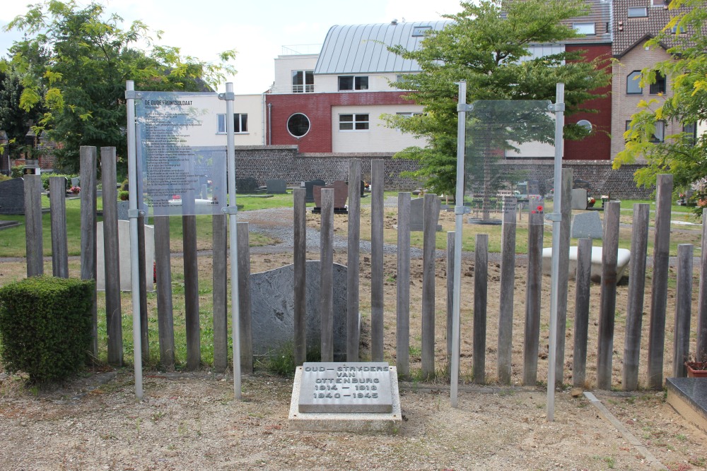
{"label": "yellow-green foliage hanging in at the right edge, before brick house", "polygon": [[[707,121],[707,1],[673,0],[668,8],[676,11],[675,16],[646,47],[661,47],[670,41],[674,46],[667,53],[672,59],[644,68],[641,87],[655,83],[657,73],[661,73],[670,78],[672,96],[641,101],[631,128],[624,134],[626,148],[617,154],[614,168],[643,157],[647,165],[634,175],[637,184],[653,186],[658,174],[672,173],[677,191],[699,184],[694,198],[705,200],[707,135],[696,136],[695,130],[700,122]],[[680,34],[681,30],[685,34]],[[684,131],[655,143],[653,133],[658,121],[675,121]],[[701,208],[697,210],[701,213]]]}

